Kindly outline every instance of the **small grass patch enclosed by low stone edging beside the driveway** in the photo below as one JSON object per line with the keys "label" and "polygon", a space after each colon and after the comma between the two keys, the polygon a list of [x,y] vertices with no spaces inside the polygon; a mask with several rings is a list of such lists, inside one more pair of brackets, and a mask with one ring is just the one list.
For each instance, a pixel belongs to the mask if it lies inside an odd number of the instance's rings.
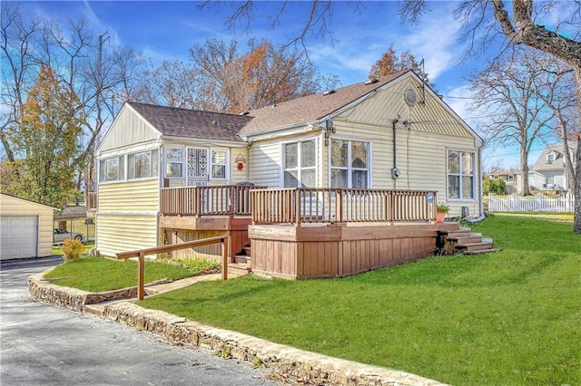
{"label": "small grass patch enclosed by low stone edging beside the driveway", "polygon": [[[145,283],[164,278],[182,279],[197,275],[208,266],[208,264],[202,264],[196,270],[180,265],[146,261]],[[137,262],[132,260],[115,261],[97,256],[82,257],[58,265],[44,277],[58,278],[53,281],[54,285],[63,285],[89,292],[104,292],[137,285]]]}

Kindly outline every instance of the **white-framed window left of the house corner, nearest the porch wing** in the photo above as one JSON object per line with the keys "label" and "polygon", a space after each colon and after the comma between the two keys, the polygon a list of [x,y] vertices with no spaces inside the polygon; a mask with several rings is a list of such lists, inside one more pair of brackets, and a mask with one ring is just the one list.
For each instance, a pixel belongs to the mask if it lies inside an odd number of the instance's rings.
{"label": "white-framed window left of the house corner, nearest the porch wing", "polygon": [[284,188],[317,186],[317,145],[315,140],[301,140],[282,145]]}

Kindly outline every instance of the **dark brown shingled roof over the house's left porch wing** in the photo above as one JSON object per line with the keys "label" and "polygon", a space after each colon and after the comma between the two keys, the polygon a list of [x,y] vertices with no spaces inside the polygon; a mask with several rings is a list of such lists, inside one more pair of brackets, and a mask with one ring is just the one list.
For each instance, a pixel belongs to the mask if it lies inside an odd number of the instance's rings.
{"label": "dark brown shingled roof over the house's left porch wing", "polygon": [[242,141],[238,133],[251,121],[250,116],[244,115],[177,109],[133,101],[127,104],[156,130],[170,137]]}

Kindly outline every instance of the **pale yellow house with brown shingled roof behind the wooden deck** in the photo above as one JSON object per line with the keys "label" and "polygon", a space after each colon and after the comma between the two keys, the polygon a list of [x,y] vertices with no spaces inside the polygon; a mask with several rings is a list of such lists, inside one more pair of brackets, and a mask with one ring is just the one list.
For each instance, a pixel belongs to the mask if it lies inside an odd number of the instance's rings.
{"label": "pale yellow house with brown shingled roof behind the wooden deck", "polygon": [[[114,256],[230,234],[233,256],[248,243],[251,222],[251,234],[272,222],[341,225],[363,212],[381,212],[389,223],[396,217],[429,223],[436,201],[451,207],[449,216],[480,217],[481,146],[478,135],[411,71],[241,115],[127,102],[96,151],[96,248]],[[253,213],[243,208],[249,183],[268,188],[255,189],[260,193],[252,196]],[[234,186],[243,188],[225,188]],[[278,188],[288,189],[272,190]],[[291,201],[282,197],[296,191]],[[369,195],[379,191],[402,198],[371,210],[365,205],[379,198]],[[367,198],[346,209],[345,194]],[[405,210],[398,199],[409,202]],[[217,202],[225,207],[217,211]],[[331,206],[339,211],[330,214]],[[209,213],[215,216],[204,217]],[[429,226],[429,237],[436,230]],[[433,253],[431,241],[422,243],[414,256]]]}

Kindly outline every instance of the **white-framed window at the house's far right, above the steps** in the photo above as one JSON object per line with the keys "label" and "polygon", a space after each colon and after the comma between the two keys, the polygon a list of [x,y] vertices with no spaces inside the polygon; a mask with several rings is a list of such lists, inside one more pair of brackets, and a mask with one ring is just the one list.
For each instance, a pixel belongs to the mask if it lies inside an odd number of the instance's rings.
{"label": "white-framed window at the house's far right, above the steps", "polygon": [[448,198],[474,199],[475,153],[448,150]]}

